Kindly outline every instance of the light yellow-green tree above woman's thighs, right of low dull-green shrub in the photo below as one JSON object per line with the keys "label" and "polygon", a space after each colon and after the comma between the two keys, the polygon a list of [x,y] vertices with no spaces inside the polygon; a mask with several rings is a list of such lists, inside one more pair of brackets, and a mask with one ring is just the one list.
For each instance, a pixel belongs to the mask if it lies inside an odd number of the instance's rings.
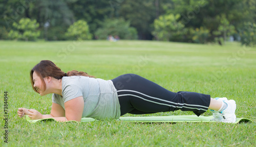
{"label": "light yellow-green tree above woman's thighs, right of low dull-green shrub", "polygon": [[185,33],[185,25],[177,21],[179,18],[179,14],[159,16],[159,19],[154,21],[155,29],[152,34],[157,40],[173,41],[176,40],[177,37],[181,39],[181,36]]}

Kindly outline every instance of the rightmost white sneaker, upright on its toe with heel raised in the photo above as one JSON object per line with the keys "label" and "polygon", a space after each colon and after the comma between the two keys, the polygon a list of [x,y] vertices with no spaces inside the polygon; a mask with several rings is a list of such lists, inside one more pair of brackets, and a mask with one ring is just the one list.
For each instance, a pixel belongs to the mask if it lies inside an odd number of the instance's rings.
{"label": "rightmost white sneaker, upright on its toe with heel raised", "polygon": [[224,123],[235,123],[237,121],[236,112],[237,104],[234,100],[225,100],[224,103],[227,104],[227,108],[221,112],[224,118]]}

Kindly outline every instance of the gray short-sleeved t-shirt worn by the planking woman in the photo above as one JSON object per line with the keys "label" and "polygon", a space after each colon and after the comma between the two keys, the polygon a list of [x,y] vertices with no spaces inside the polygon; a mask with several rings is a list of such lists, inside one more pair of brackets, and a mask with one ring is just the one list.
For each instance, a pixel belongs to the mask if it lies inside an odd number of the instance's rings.
{"label": "gray short-sleeved t-shirt worn by the planking woman", "polygon": [[82,96],[84,101],[82,117],[92,117],[97,120],[120,117],[120,104],[111,80],[86,76],[62,77],[62,97],[53,94],[52,102],[65,109],[65,102],[79,96]]}

